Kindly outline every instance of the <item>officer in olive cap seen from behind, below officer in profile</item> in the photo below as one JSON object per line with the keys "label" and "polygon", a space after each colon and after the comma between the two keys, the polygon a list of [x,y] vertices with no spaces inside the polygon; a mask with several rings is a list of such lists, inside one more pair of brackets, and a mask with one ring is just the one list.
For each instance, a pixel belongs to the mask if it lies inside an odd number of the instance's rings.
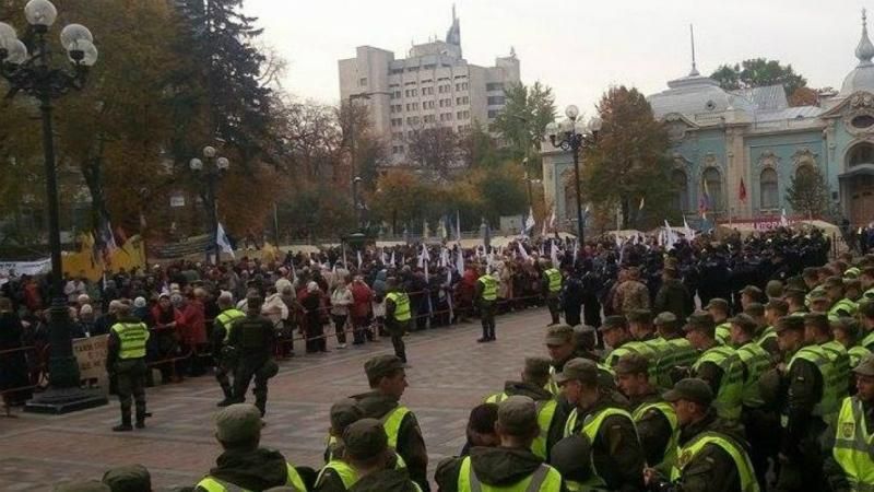
{"label": "officer in olive cap seen from behind, below officer in profile", "polygon": [[410,480],[405,468],[394,466],[395,455],[380,421],[362,419],[351,424],[343,433],[343,441],[346,443],[344,459],[354,477],[349,490],[422,492],[422,488]]}

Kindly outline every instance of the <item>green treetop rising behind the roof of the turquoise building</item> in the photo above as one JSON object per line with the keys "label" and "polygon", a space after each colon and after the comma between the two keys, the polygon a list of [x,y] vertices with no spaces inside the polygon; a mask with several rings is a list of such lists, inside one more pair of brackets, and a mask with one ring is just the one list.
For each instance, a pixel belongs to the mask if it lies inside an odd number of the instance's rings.
{"label": "green treetop rising behind the roof of the turquoise building", "polygon": [[800,87],[807,86],[807,80],[795,73],[792,65],[780,65],[778,60],[753,58],[741,63],[720,66],[711,75],[727,91],[739,89],[782,85],[787,96]]}

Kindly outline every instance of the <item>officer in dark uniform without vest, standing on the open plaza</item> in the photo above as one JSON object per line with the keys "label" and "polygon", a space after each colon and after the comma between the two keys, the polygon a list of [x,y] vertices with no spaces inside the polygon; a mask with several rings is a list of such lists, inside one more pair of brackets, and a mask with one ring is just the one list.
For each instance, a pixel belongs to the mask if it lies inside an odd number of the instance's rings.
{"label": "officer in dark uniform without vest, standing on the open plaza", "polygon": [[248,313],[246,317],[237,320],[231,330],[227,344],[233,347],[238,354],[237,367],[234,372],[234,401],[246,401],[246,390],[255,377],[255,406],[261,411],[261,417],[267,413],[268,379],[276,375],[279,366],[273,360],[275,332],[273,323],[261,316],[263,298],[249,296],[246,300]]}

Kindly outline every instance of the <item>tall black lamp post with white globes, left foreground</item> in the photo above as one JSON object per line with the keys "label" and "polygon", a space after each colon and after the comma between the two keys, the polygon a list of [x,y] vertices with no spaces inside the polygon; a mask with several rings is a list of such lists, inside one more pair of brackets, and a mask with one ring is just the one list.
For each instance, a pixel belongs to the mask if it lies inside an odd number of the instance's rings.
{"label": "tall black lamp post with white globes, left foreground", "polygon": [[58,180],[51,128],[51,101],[84,86],[88,68],[97,62],[97,48],[87,27],[69,24],[61,30],[60,42],[67,51],[70,67],[52,67],[52,51],[46,36],[58,17],[58,10],[48,0],[31,0],[24,7],[24,15],[29,25],[24,37],[28,44],[19,39],[11,25],[0,22],[0,78],[9,84],[7,98],[24,93],[39,102],[46,167],[48,243],[51,251],[49,388],[28,401],[25,410],[64,413],[107,403],[102,391],[88,391],[79,386],[79,363],[73,354],[70,313],[63,295]]}

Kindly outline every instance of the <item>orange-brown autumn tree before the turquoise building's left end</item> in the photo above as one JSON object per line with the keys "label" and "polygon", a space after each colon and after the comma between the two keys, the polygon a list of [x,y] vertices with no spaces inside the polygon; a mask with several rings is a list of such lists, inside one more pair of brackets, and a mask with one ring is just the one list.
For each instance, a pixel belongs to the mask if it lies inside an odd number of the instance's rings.
{"label": "orange-brown autumn tree before the turquoise building's left end", "polygon": [[624,85],[611,87],[601,97],[598,112],[602,130],[597,144],[582,156],[584,198],[602,208],[619,207],[624,229],[669,218],[668,132],[653,117],[643,94]]}

